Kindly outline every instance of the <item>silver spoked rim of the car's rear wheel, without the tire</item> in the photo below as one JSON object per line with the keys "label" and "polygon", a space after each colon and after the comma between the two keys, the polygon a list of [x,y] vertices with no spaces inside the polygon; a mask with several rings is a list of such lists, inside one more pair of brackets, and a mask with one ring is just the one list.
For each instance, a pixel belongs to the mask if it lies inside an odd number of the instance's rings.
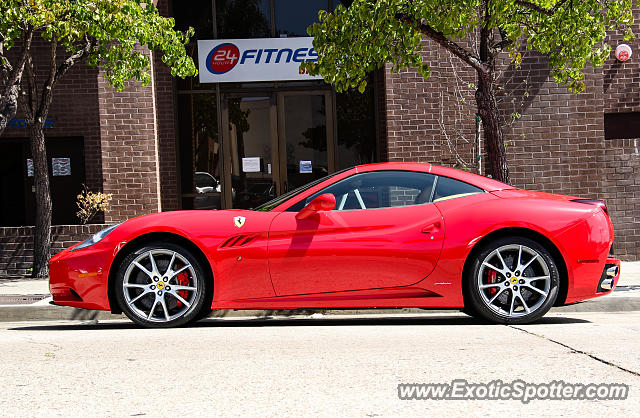
{"label": "silver spoked rim of the car's rear wheel, without the tire", "polygon": [[551,274],[545,258],[536,250],[509,244],[485,257],[476,285],[492,311],[504,317],[521,317],[535,312],[547,300]]}

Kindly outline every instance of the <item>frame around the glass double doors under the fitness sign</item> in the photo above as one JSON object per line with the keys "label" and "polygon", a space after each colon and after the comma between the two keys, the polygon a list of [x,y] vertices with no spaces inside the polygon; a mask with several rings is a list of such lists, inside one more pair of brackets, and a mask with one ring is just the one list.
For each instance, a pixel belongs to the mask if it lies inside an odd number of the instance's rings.
{"label": "frame around the glass double doors under the fitness sign", "polygon": [[270,115],[269,120],[271,127],[269,136],[271,138],[271,160],[273,166],[271,175],[276,185],[276,194],[278,196],[286,193],[287,186],[287,155],[286,155],[286,138],[285,138],[285,122],[286,115],[284,112],[284,100],[286,96],[324,96],[325,100],[325,117],[327,132],[327,162],[329,166],[329,174],[336,171],[336,152],[338,148],[337,127],[335,123],[335,93],[332,90],[271,90],[262,91],[251,90],[247,92],[230,91],[221,93],[222,104],[222,157],[223,157],[223,174],[222,174],[222,209],[231,209],[233,207],[232,188],[226,187],[231,185],[231,173],[233,171],[233,156],[231,147],[231,136],[229,132],[229,106],[228,100],[242,97],[268,97],[270,98]]}

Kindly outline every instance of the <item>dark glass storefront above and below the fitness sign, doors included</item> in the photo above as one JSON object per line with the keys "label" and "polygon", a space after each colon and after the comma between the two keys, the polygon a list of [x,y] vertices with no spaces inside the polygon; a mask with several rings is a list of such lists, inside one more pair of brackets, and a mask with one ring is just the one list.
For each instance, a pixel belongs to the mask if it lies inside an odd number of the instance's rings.
{"label": "dark glass storefront above and below the fitness sign, doors included", "polygon": [[[349,2],[197,3],[187,10],[173,3],[176,26],[196,27],[188,45],[194,59],[199,39],[308,36],[320,10]],[[334,94],[322,80],[200,84],[191,77],[176,83],[183,209],[256,207],[343,167],[376,161],[372,83],[364,95]],[[224,170],[223,148],[231,157]]]}

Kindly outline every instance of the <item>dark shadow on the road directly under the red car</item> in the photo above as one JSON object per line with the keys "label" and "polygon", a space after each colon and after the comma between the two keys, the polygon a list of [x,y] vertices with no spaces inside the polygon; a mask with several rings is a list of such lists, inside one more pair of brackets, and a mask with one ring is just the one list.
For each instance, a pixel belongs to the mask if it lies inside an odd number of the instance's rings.
{"label": "dark shadow on the road directly under the red car", "polygon": [[[585,319],[571,317],[543,317],[533,324],[582,324],[591,323]],[[221,328],[221,327],[237,327],[237,328],[253,328],[253,327],[317,327],[317,326],[455,326],[455,325],[482,325],[482,326],[500,326],[481,319],[472,318],[462,315],[437,315],[437,316],[387,316],[374,318],[345,318],[345,317],[258,317],[258,318],[208,318],[189,325],[189,328]],[[121,330],[121,329],[140,329],[139,326],[129,321],[87,321],[79,324],[47,324],[33,325],[24,327],[9,328],[11,331],[74,331],[74,330]],[[158,329],[158,328],[156,328]]]}

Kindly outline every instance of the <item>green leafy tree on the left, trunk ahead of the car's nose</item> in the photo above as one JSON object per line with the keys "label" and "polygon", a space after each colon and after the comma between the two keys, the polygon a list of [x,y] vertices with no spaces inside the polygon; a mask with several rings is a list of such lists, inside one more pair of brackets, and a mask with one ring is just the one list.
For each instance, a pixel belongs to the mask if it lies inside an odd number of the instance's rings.
{"label": "green leafy tree on the left, trunk ahead of the car's nose", "polygon": [[[150,0],[2,0],[0,4],[0,129],[15,114],[18,93],[29,129],[36,188],[34,277],[48,274],[51,249],[51,195],[44,123],[59,81],[74,65],[102,70],[116,89],[127,80],[150,82],[150,54],[162,52],[173,76],[197,70],[185,52],[193,34],[175,31]],[[38,39],[40,38],[40,39]],[[45,68],[34,65],[33,43],[48,45]],[[41,58],[41,57],[39,57]],[[42,78],[38,79],[38,75]],[[1,133],[1,131],[0,131]]]}

